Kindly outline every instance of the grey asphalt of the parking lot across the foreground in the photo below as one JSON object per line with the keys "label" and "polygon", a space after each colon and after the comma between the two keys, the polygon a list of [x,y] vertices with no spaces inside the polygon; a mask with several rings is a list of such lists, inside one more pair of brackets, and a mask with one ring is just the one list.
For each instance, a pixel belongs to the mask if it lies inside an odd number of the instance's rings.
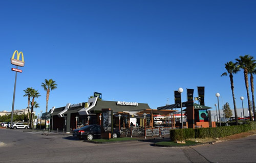
{"label": "grey asphalt of the parking lot across the foreground", "polygon": [[[71,135],[0,129],[0,162],[255,162],[256,135],[193,147],[155,147],[154,140],[93,144]],[[244,158],[244,156],[249,156]]]}

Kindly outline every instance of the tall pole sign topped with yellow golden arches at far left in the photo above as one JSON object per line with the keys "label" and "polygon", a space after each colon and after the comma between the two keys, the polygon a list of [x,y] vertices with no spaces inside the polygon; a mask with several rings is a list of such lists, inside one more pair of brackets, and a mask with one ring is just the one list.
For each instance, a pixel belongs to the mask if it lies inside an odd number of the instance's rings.
{"label": "tall pole sign topped with yellow golden arches at far left", "polygon": [[[14,59],[15,54],[17,53],[17,59]],[[19,60],[20,55],[22,55],[22,61]],[[11,115],[11,125],[13,123],[13,111],[14,111],[14,101],[15,101],[15,91],[16,91],[16,81],[17,81],[17,72],[22,72],[22,70],[18,69],[18,66],[24,66],[25,62],[24,62],[24,56],[23,56],[23,52],[20,51],[18,52],[18,50],[15,50],[13,52],[12,58],[11,58],[11,64],[15,65],[16,68],[12,68],[12,71],[16,71],[15,73],[15,82],[14,82],[14,91],[13,91],[13,98],[12,98],[12,115]]]}

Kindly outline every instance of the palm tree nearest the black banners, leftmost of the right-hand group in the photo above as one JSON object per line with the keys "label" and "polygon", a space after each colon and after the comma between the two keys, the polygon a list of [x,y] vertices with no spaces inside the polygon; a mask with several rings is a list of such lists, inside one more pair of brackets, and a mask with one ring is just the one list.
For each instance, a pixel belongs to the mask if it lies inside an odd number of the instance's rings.
{"label": "palm tree nearest the black banners, leftmost of the right-hand group", "polygon": [[238,68],[237,63],[233,63],[232,61],[227,62],[225,64],[225,68],[227,72],[224,72],[221,76],[227,76],[229,74],[230,78],[230,85],[231,85],[231,91],[232,91],[232,96],[233,96],[233,104],[234,104],[234,117],[236,119],[236,125],[238,125],[238,114],[237,114],[237,106],[236,106],[236,98],[234,98],[234,82],[233,82],[233,74],[238,73],[240,69]]}

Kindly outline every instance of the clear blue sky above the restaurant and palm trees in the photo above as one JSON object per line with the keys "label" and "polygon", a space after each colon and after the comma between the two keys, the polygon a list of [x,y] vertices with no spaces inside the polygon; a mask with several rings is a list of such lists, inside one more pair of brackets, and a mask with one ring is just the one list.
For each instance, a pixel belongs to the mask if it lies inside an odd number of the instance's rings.
{"label": "clear blue sky above the restaurant and palm trees", "polygon": [[[1,1],[1,108],[11,111],[15,72],[10,58],[23,51],[15,110],[27,107],[28,87],[45,112],[45,79],[56,80],[49,106],[103,100],[163,106],[174,90],[205,87],[205,105],[233,108],[224,64],[256,57],[256,1]],[[234,76],[237,107],[248,107],[243,72]],[[251,96],[251,94],[250,94]]]}

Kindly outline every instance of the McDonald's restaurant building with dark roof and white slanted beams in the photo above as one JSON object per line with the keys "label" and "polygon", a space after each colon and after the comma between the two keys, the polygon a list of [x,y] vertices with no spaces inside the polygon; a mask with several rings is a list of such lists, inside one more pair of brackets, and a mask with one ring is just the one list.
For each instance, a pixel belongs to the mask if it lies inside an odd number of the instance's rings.
{"label": "McDonald's restaurant building with dark roof and white slanted beams", "polygon": [[[121,127],[130,127],[130,118],[136,120],[135,125],[143,126],[143,116],[134,116],[142,110],[151,110],[146,103],[125,102],[125,101],[103,101],[98,97],[90,98],[88,102],[77,104],[68,103],[66,106],[52,108],[48,113],[44,113],[42,118],[50,119],[50,129],[65,130],[70,133],[76,126],[86,124],[101,124],[102,108],[110,108],[113,111],[114,127],[119,127],[119,117]],[[118,116],[119,115],[119,116]],[[52,126],[53,124],[53,126]]]}

